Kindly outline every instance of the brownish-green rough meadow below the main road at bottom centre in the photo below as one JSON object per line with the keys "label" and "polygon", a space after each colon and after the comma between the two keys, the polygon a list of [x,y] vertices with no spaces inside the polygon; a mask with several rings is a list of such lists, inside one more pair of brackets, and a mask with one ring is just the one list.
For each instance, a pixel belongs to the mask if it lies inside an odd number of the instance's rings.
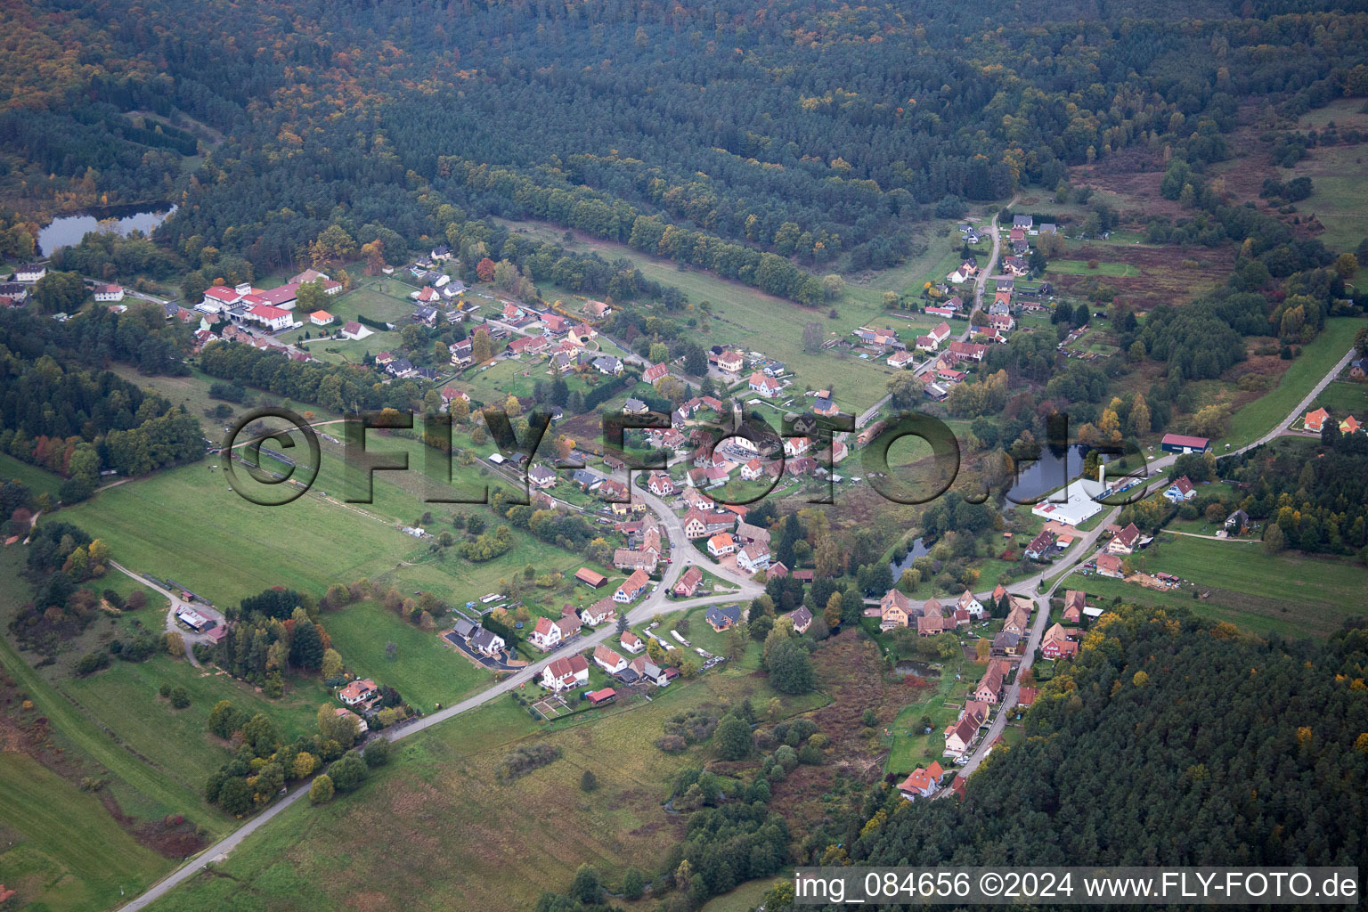
{"label": "brownish-green rough meadow below the main road at bottom centre", "polygon": [[[190,879],[157,912],[365,908],[531,908],[543,889],[564,890],[581,863],[609,887],[628,866],[654,874],[683,834],[661,803],[674,771],[711,756],[710,747],[666,755],[662,723],[687,708],[773,692],[743,671],[706,674],[618,706],[596,718],[543,726],[509,697],[401,742],[360,792],[331,804],[298,803],[249,837],[213,874]],[[781,697],[810,708],[808,697]],[[591,716],[595,714],[586,714]],[[513,742],[562,749],[561,759],[510,785],[494,771]],[[598,789],[580,790],[592,770]],[[379,846],[405,845],[402,864]],[[250,883],[250,890],[242,885]]]}

